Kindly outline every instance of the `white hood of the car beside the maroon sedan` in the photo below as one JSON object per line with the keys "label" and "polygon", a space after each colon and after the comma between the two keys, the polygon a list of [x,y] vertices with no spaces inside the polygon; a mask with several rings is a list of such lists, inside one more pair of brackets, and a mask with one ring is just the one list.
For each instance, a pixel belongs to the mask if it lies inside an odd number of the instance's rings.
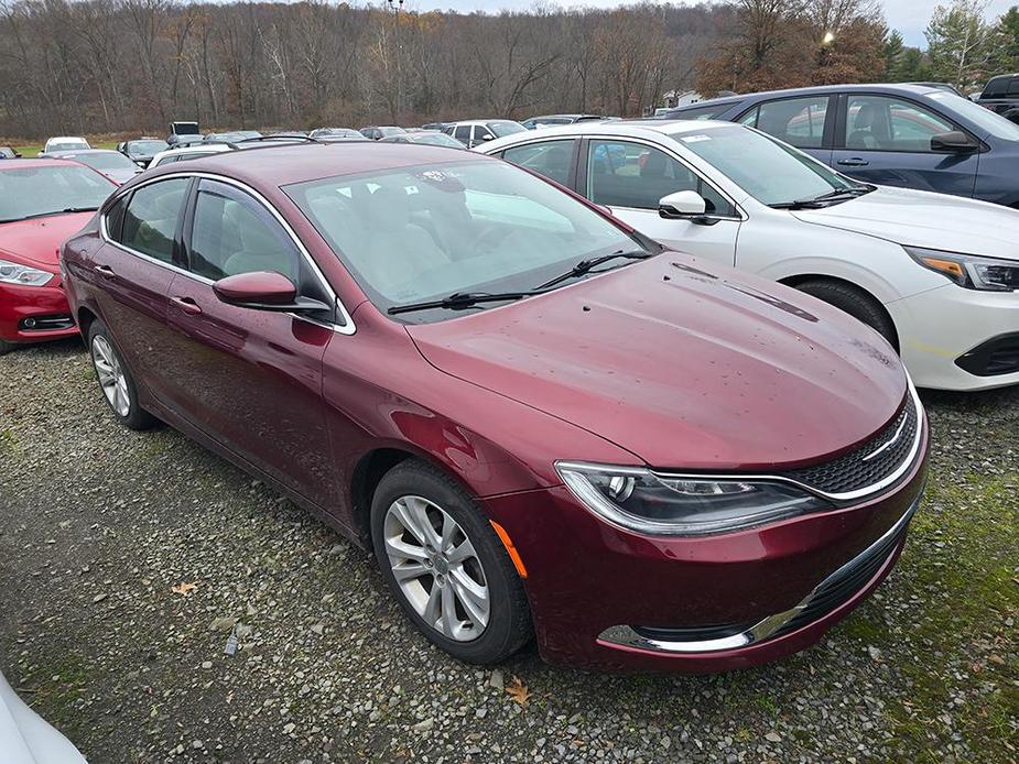
{"label": "white hood of the car beside the maroon sedan", "polygon": [[1019,260],[1019,210],[987,201],[880,187],[850,201],[793,215],[907,247]]}

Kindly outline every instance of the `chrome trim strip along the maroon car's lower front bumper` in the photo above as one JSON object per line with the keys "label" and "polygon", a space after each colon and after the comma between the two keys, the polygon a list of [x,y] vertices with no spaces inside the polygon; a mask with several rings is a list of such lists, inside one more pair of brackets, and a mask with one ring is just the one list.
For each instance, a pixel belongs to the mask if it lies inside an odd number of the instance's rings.
{"label": "chrome trim strip along the maroon car's lower front bumper", "polygon": [[666,640],[654,640],[643,636],[638,634],[631,626],[624,624],[618,626],[609,626],[598,635],[598,641],[607,642],[614,645],[638,647],[640,650],[652,651],[655,653],[715,653],[723,650],[736,650],[738,647],[746,647],[757,642],[763,642],[770,636],[777,634],[787,623],[806,610],[806,608],[810,607],[813,599],[817,597],[820,592],[823,592],[826,588],[832,586],[833,582],[838,581],[848,571],[852,571],[860,560],[867,559],[871,554],[875,553],[876,549],[879,549],[882,545],[889,543],[891,538],[901,534],[906,526],[909,524],[909,521],[912,519],[913,514],[917,512],[917,507],[919,505],[920,498],[918,496],[917,500],[913,501],[913,503],[910,505],[909,510],[907,510],[906,513],[899,519],[899,521],[890,528],[888,528],[888,531],[886,531],[880,538],[870,544],[870,546],[868,546],[848,563],[839,567],[833,574],[827,576],[823,581],[821,581],[821,583],[814,587],[811,592],[804,597],[796,605],[781,613],[769,615],[768,618],[758,621],[756,624],[750,626],[750,629],[747,629],[739,634],[733,634],[731,636],[725,636],[717,640],[674,642]]}

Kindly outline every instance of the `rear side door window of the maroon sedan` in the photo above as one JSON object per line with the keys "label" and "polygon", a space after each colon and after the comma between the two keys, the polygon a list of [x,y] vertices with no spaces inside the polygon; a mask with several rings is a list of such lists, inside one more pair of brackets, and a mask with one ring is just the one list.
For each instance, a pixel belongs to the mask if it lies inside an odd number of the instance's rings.
{"label": "rear side door window of the maroon sedan", "polygon": [[142,186],[131,195],[120,241],[165,263],[173,262],[173,237],[187,195],[188,178]]}

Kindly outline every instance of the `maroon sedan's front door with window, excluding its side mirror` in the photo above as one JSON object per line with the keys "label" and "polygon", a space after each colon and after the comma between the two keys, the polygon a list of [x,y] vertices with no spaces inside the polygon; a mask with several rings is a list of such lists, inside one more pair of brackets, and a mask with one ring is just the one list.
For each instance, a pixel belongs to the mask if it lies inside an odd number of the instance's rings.
{"label": "maroon sedan's front door with window, excluding its side mirror", "polygon": [[213,284],[282,273],[303,296],[335,305],[324,279],[267,203],[200,178],[183,242],[187,274],[170,290],[173,404],[181,416],[319,505],[336,499],[322,403],[322,357],[332,316],[236,307]]}

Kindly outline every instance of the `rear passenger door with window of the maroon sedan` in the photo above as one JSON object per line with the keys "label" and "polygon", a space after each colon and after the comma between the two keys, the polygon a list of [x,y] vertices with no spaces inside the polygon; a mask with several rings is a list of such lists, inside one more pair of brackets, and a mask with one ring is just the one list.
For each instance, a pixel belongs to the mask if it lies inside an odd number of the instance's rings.
{"label": "rear passenger door with window of the maroon sedan", "polygon": [[189,185],[167,178],[120,197],[104,217],[105,243],[85,274],[99,287],[99,312],[135,380],[160,401],[167,392],[167,292],[183,265],[177,232]]}

